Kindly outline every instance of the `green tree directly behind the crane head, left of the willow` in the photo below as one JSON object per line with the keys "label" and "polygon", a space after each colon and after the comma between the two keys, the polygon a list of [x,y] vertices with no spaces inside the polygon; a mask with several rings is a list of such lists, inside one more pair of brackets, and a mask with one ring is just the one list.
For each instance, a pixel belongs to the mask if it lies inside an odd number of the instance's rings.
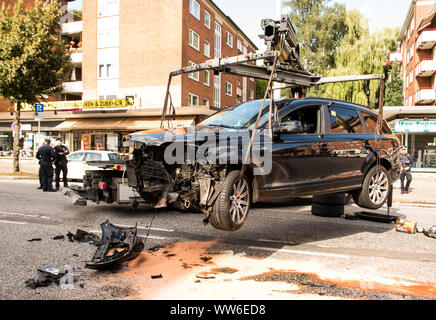
{"label": "green tree directly behind the crane head, left of the willow", "polygon": [[335,66],[335,52],[347,35],[345,5],[331,0],[287,1],[300,43],[300,60],[307,71],[323,73]]}

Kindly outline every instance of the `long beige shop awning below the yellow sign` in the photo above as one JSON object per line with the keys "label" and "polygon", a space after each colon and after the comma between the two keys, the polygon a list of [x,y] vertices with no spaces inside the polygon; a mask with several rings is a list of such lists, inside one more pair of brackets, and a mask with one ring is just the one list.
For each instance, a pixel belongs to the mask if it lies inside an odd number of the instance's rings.
{"label": "long beige shop awning below the yellow sign", "polygon": [[[88,131],[88,130],[115,130],[139,131],[160,128],[160,117],[130,117],[130,118],[94,118],[94,119],[69,119],[65,120],[53,131]],[[195,116],[178,116],[170,120],[170,126],[189,127],[195,124]],[[168,121],[164,123],[168,127]]]}

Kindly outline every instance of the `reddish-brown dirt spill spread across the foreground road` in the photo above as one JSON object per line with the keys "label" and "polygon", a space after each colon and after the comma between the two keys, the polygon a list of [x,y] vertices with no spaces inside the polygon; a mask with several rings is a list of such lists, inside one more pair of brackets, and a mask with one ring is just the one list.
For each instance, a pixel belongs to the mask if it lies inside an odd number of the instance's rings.
{"label": "reddish-brown dirt spill spread across the foreground road", "polygon": [[215,243],[170,243],[144,251],[110,277],[132,283],[128,299],[436,299],[435,284],[362,281],[358,272],[341,277],[314,262],[212,254],[208,248]]}

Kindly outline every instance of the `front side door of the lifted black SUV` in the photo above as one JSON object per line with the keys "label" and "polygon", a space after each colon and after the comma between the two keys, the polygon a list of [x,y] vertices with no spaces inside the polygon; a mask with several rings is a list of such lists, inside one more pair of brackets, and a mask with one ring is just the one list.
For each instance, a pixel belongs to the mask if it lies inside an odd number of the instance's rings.
{"label": "front side door of the lifted black SUV", "polygon": [[292,198],[320,188],[328,172],[320,157],[323,112],[321,105],[305,105],[285,113],[280,121],[299,120],[303,133],[274,135],[270,197]]}

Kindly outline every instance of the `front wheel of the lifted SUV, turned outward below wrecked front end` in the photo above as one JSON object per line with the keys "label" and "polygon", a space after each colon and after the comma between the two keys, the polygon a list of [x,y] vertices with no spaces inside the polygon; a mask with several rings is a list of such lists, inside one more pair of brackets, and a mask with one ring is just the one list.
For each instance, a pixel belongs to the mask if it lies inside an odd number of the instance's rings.
{"label": "front wheel of the lifted SUV, turned outward below wrecked front end", "polygon": [[210,224],[219,230],[237,231],[244,225],[251,207],[251,186],[240,171],[231,171],[222,185],[222,191],[210,214]]}

